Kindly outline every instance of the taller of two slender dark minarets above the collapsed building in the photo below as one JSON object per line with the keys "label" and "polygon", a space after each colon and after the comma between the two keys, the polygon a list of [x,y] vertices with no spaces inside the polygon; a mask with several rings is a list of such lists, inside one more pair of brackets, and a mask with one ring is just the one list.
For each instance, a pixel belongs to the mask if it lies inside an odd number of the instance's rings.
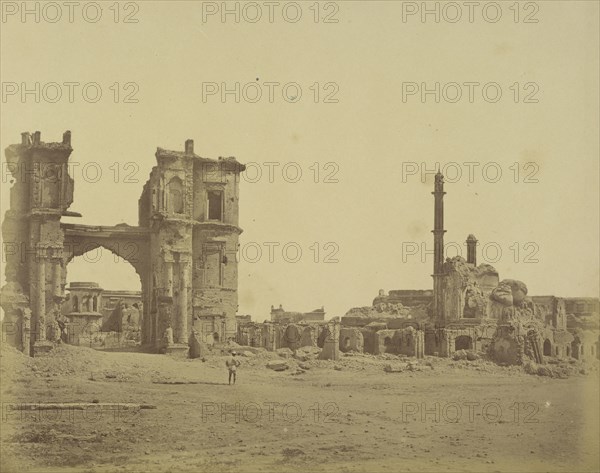
{"label": "taller of two slender dark minarets above the collapsed building", "polygon": [[433,316],[437,323],[444,320],[444,298],[442,289],[444,265],[444,176],[438,170],[435,175],[435,197],[433,225]]}

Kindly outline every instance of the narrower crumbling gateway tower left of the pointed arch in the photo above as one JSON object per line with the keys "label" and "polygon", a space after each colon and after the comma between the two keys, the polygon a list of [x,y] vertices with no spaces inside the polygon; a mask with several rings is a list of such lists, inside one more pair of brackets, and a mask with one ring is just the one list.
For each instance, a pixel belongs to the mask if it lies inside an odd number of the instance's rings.
{"label": "narrower crumbling gateway tower left of the pointed arch", "polygon": [[56,320],[64,288],[63,215],[73,201],[67,172],[71,132],[60,143],[44,143],[41,133],[21,134],[6,148],[13,177],[10,209],[2,224],[6,285],[2,288],[7,341],[28,354],[48,351],[56,339]]}

